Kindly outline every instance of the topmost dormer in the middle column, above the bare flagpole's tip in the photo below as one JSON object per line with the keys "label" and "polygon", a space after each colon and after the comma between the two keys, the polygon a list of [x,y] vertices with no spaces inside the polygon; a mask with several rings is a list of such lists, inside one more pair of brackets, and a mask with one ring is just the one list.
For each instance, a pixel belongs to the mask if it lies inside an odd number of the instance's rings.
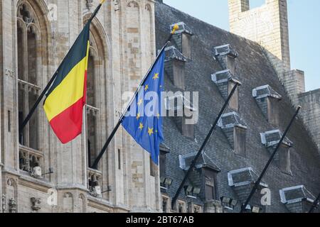
{"label": "topmost dormer in the middle column, above the bare flagpole's tip", "polygon": [[230,44],[215,47],[213,55],[223,69],[228,69],[235,74],[235,58],[238,57],[238,53],[231,48]]}

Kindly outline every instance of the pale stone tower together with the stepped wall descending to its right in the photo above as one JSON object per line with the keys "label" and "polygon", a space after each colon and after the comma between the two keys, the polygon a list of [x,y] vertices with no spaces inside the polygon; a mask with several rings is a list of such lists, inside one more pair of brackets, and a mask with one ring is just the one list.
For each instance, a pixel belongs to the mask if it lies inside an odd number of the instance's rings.
{"label": "pale stone tower together with the stepped wall descending to its right", "polygon": [[265,48],[292,104],[303,107],[301,116],[320,152],[320,89],[306,92],[304,72],[291,70],[287,0],[265,0],[250,9],[249,0],[228,0],[230,32],[255,41]]}

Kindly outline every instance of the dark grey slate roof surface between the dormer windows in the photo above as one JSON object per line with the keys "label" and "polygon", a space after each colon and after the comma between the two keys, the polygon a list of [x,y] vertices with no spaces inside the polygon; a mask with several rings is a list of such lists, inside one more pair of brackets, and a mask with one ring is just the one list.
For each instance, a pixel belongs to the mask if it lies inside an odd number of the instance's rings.
{"label": "dark grey slate roof surface between the dormer windows", "polygon": [[[236,199],[237,195],[228,185],[228,172],[252,167],[252,170],[260,175],[270,157],[267,148],[261,143],[260,133],[275,129],[284,131],[295,110],[260,45],[211,26],[157,1],[155,13],[157,49],[161,49],[164,45],[170,33],[169,26],[172,24],[183,21],[193,31],[191,38],[192,57],[191,60],[186,62],[186,90],[199,92],[200,112],[199,121],[195,126],[195,140],[181,135],[173,118],[164,118],[165,143],[170,149],[166,158],[166,175],[174,180],[167,193],[172,198],[184,176],[183,170],[179,167],[179,155],[198,151],[210,130],[210,125],[218,116],[218,112],[224,104],[224,99],[218,87],[211,80],[211,74],[223,70],[219,63],[214,60],[213,48],[230,44],[239,55],[236,59],[236,73],[240,82],[242,82],[242,86],[240,87],[240,109],[238,113],[248,127],[246,132],[246,157],[233,153],[227,138],[219,127],[216,128],[210,139],[206,148],[206,155],[221,170],[217,179],[217,198],[228,196]],[[282,101],[279,102],[281,114],[278,128],[274,128],[268,123],[255,98],[252,97],[252,89],[267,84],[282,96]],[[176,90],[168,76],[166,76],[165,89],[167,91]],[[228,110],[226,113],[230,111]],[[282,173],[275,163],[267,171],[263,181],[272,190],[272,206],[267,207],[268,212],[288,212],[281,202],[279,189],[303,184],[313,194],[319,194],[320,192],[320,158],[316,145],[312,142],[300,119],[295,121],[287,137],[294,143],[291,150],[293,176]],[[180,198],[186,199],[183,192],[181,192]],[[194,202],[203,204],[200,199],[194,200]]]}

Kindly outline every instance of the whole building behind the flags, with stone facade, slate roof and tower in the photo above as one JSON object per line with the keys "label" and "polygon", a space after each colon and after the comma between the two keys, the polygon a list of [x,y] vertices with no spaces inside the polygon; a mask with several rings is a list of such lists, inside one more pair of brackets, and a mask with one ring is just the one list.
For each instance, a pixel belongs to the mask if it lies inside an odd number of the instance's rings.
{"label": "whole building behind the flags, with stone facade, slate roof and tower", "polygon": [[[230,28],[238,36],[161,0],[107,0],[90,28],[83,133],[62,145],[41,107],[22,133],[19,124],[99,0],[0,1],[1,211],[236,212],[298,103],[307,114],[292,126],[250,205],[306,211],[320,190],[320,92],[305,93],[304,73],[290,70],[287,1],[267,0],[253,10],[248,2],[229,0]],[[159,168],[120,127],[92,170],[127,101],[122,94],[137,89],[174,23],[179,30],[166,50],[165,89],[199,92],[198,123],[186,124],[185,116],[164,119]],[[242,86],[171,209],[194,153],[238,82]],[[183,106],[197,111],[192,100],[183,99]],[[265,189],[272,192],[270,206],[260,203]]]}

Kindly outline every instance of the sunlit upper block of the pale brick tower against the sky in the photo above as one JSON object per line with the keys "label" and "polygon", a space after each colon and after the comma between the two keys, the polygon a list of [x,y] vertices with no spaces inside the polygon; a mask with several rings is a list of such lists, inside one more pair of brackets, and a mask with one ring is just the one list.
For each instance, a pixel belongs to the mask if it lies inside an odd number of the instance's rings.
{"label": "sunlit upper block of the pale brick tower against the sky", "polygon": [[230,32],[260,43],[279,77],[290,70],[287,0],[266,0],[250,9],[249,0],[229,0]]}

